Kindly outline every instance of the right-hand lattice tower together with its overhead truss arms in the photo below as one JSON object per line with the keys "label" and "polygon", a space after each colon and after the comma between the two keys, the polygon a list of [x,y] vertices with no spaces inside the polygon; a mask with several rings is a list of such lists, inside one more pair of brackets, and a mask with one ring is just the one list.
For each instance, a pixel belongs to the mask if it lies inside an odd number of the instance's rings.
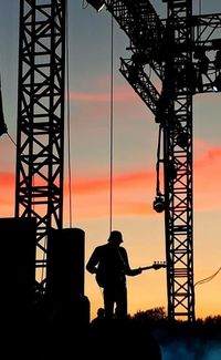
{"label": "right-hand lattice tower together with its overhead truss arms", "polygon": [[221,91],[221,14],[193,16],[192,0],[162,0],[162,20],[149,0],[87,2],[105,6],[128,35],[119,71],[164,133],[164,194],[154,205],[165,212],[168,318],[193,321],[192,100]]}

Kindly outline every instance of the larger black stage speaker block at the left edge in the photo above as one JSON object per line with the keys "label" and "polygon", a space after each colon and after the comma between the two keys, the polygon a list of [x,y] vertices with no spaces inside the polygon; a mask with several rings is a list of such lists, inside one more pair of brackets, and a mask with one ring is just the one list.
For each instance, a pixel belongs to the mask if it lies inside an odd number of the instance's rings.
{"label": "larger black stage speaker block at the left edge", "polygon": [[4,309],[28,309],[34,300],[36,220],[0,218],[1,297]]}

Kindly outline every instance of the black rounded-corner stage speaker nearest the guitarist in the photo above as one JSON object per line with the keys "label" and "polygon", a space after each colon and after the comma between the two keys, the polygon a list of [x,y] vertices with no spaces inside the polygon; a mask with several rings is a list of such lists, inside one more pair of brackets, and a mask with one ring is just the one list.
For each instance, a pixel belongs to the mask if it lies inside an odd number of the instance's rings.
{"label": "black rounded-corner stage speaker nearest the guitarist", "polygon": [[48,238],[46,296],[52,300],[84,296],[85,235],[80,228],[52,229]]}

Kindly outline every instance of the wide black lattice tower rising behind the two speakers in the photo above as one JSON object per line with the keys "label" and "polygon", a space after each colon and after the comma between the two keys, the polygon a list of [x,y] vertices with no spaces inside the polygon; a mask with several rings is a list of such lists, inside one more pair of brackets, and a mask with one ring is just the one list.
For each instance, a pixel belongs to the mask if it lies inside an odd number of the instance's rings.
{"label": "wide black lattice tower rising behind the two speakers", "polygon": [[21,0],[15,216],[36,217],[41,270],[48,232],[62,228],[64,56],[65,0]]}

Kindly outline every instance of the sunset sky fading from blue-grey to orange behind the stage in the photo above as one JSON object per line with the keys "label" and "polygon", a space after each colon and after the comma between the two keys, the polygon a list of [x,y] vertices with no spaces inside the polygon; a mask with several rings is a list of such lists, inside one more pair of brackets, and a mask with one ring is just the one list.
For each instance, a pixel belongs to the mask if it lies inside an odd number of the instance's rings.
{"label": "sunset sky fading from blue-grey to orange behind the stage", "polygon": [[[199,1],[194,11],[199,10]],[[151,1],[165,18],[161,0]],[[110,16],[86,1],[69,1],[71,162],[73,227],[85,232],[85,261],[109,234]],[[17,132],[19,1],[0,0],[0,73],[4,117],[13,141]],[[221,3],[201,0],[204,13],[221,12]],[[113,229],[119,229],[130,266],[165,260],[164,214],[152,209],[156,195],[158,124],[119,73],[119,56],[128,40],[114,24],[114,157]],[[221,93],[194,96],[193,241],[194,282],[221,267]],[[65,153],[67,151],[65,128]],[[67,156],[65,156],[65,161]],[[14,215],[15,146],[0,138],[0,216]],[[64,226],[70,226],[67,161]],[[196,286],[196,315],[220,313],[221,272]],[[85,295],[92,318],[103,305],[92,275],[85,272]],[[149,270],[128,278],[130,313],[167,308],[166,271]]]}

